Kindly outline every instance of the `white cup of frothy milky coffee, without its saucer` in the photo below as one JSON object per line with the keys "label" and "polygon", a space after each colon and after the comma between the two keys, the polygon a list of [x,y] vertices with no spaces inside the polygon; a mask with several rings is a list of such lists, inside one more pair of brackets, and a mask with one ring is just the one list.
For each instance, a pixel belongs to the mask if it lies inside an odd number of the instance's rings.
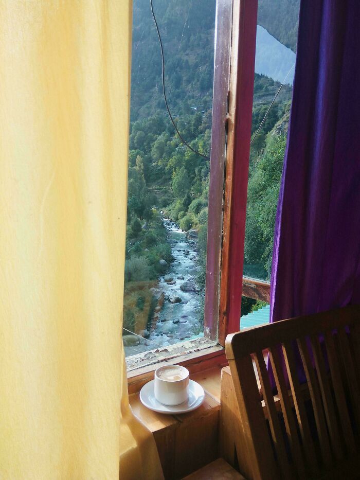
{"label": "white cup of frothy milky coffee, without its saucer", "polygon": [[189,370],[181,365],[164,365],[155,370],[154,394],[164,405],[179,405],[189,398]]}

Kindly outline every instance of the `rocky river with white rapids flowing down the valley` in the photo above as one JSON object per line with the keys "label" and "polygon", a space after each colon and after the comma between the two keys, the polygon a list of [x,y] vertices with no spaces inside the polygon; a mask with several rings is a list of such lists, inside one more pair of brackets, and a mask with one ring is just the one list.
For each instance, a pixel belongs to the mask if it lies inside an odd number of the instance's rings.
{"label": "rocky river with white rapids flowing down the valley", "polygon": [[190,232],[187,238],[176,223],[166,218],[163,222],[169,232],[168,242],[174,261],[166,275],[159,278],[157,288],[153,289],[158,305],[149,330],[144,332],[148,338],[139,339],[138,345],[127,346],[124,342],[127,356],[203,334],[199,322],[201,294],[195,282],[196,233]]}

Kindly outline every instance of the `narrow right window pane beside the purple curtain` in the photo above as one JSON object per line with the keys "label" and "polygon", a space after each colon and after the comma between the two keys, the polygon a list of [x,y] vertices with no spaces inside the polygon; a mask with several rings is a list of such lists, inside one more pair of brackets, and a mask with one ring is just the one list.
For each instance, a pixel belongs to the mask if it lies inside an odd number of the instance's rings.
{"label": "narrow right window pane beside the purple curtain", "polygon": [[[276,208],[292,101],[299,2],[283,0],[277,7],[275,11],[274,5],[264,1],[258,5],[243,270],[243,293],[247,297],[242,300],[242,316],[255,308],[264,308],[269,301],[266,283],[271,276]],[[285,23],[280,21],[279,8]],[[250,306],[254,299],[256,303]],[[268,317],[267,309],[262,312],[266,314],[253,315],[259,324]],[[249,323],[249,317],[244,321]]]}

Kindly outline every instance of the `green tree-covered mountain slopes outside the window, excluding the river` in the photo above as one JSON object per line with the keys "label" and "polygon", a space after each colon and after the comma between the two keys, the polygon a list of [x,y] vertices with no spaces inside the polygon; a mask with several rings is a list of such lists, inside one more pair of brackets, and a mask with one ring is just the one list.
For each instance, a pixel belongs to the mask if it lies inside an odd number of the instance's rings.
{"label": "green tree-covered mountain slopes outside the window, excluding the river", "polygon": [[[195,150],[209,156],[215,2],[154,0],[154,9],[164,38],[167,92],[177,127]],[[210,168],[208,159],[181,143],[166,114],[149,0],[134,0],[133,18],[124,300],[124,326],[131,331],[137,318],[148,316],[150,321],[154,305],[149,287],[172,261],[160,211],[183,230],[196,231],[196,283],[204,289]],[[283,24],[274,21],[271,26],[280,38]],[[290,45],[294,37],[289,38]],[[279,86],[255,76],[253,133]],[[266,273],[272,248],[290,100],[291,87],[285,85],[251,149],[245,263],[254,265],[253,273],[259,276]]]}

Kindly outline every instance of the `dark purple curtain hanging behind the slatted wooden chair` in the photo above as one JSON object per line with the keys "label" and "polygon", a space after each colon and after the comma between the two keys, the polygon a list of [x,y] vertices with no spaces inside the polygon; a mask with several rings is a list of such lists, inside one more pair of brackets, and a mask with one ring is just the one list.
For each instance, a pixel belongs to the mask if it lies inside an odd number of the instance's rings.
{"label": "dark purple curtain hanging behind the slatted wooden chair", "polygon": [[360,1],[301,0],[271,322],[360,304]]}

